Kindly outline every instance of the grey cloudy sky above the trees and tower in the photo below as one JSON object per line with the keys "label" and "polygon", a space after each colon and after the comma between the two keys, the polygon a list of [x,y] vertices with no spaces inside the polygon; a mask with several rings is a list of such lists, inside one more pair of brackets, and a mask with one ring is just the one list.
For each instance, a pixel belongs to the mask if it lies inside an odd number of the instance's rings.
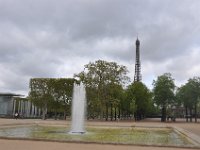
{"label": "grey cloudy sky above the trees and tower", "polygon": [[34,77],[73,77],[95,60],[127,66],[135,40],[143,82],[200,76],[199,0],[0,0],[0,92],[27,95]]}

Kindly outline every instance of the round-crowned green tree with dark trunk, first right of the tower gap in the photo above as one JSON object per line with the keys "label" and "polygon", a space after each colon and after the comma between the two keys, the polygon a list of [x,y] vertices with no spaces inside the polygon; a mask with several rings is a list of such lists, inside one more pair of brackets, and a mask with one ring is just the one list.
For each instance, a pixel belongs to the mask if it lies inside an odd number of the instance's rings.
{"label": "round-crowned green tree with dark trunk, first right of the tower gap", "polygon": [[161,121],[166,121],[167,107],[173,104],[175,84],[170,73],[165,73],[158,76],[157,80],[153,81],[153,93],[155,103],[161,107]]}

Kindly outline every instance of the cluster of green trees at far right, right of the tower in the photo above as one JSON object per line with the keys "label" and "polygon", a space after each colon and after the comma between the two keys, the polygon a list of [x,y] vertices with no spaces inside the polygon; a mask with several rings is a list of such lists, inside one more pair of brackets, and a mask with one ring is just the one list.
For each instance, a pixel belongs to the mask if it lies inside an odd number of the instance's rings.
{"label": "cluster of green trees at far right, right of the tower", "polygon": [[198,105],[200,104],[199,77],[189,79],[185,85],[178,88],[175,86],[171,74],[165,73],[153,81],[153,86],[153,100],[161,108],[161,121],[166,121],[167,115],[176,116],[176,114],[172,114],[174,109],[176,112],[173,113],[182,111],[187,121],[189,118],[192,121],[192,117],[194,117],[195,122],[197,122]]}

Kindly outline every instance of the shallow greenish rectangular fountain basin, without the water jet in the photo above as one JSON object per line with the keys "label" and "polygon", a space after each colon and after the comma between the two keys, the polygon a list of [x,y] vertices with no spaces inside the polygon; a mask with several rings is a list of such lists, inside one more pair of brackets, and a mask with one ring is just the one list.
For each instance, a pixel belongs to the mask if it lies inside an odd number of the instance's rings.
{"label": "shallow greenish rectangular fountain basin, without the water jet", "polygon": [[58,142],[197,147],[173,128],[87,127],[86,129],[85,134],[68,134],[70,128],[34,125],[0,129],[0,137]]}

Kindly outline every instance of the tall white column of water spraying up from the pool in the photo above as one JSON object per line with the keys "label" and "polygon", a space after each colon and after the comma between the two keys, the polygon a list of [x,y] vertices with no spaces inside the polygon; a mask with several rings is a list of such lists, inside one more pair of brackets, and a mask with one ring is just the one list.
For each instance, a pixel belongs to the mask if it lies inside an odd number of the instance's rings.
{"label": "tall white column of water spraying up from the pool", "polygon": [[73,98],[72,98],[72,124],[71,124],[71,134],[83,134],[85,133],[85,107],[86,107],[86,97],[85,97],[85,86],[83,83],[80,85],[74,83],[73,88]]}

